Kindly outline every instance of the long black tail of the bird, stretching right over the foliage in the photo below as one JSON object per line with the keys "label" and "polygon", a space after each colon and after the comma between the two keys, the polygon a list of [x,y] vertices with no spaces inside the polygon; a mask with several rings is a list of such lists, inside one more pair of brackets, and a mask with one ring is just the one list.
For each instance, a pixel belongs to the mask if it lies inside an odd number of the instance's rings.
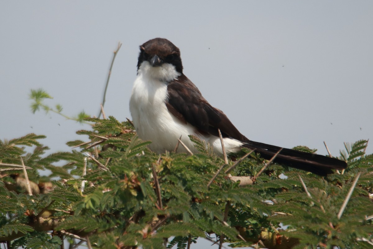
{"label": "long black tail of the bird, stretching right over the foliage", "polygon": [[[281,147],[273,146],[255,141],[245,141],[245,147],[260,153],[264,159],[271,159]],[[345,169],[347,163],[335,158],[307,153],[298,150],[285,149],[276,156],[274,162],[288,165],[292,168],[302,169],[318,175],[332,174],[332,169]]]}

